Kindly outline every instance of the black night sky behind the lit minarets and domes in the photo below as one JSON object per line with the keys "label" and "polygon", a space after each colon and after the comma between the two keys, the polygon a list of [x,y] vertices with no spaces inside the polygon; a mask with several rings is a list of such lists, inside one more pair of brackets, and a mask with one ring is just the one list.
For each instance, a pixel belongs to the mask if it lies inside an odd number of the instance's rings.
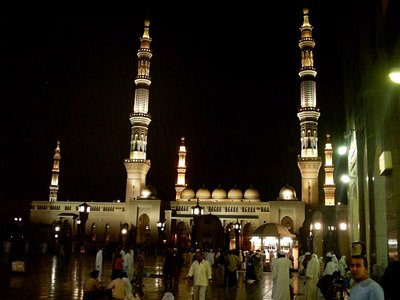
{"label": "black night sky behind the lit minarets and domes", "polygon": [[[333,3],[310,6],[320,156],[325,134],[341,143],[344,131],[343,29],[335,27]],[[244,191],[253,185],[269,201],[288,183],[300,196],[302,5],[264,6],[5,14],[0,20],[2,197],[47,200],[60,140],[59,200],[124,199],[136,53],[147,13],[154,54],[147,183],[162,199],[174,197],[177,151],[185,135],[186,179],[193,189],[220,185],[229,191],[236,185]]]}

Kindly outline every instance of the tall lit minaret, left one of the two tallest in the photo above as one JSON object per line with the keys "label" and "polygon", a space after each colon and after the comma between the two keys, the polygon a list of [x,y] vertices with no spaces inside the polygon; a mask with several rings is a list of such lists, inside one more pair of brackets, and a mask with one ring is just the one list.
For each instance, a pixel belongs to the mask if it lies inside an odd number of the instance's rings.
{"label": "tall lit minaret, left one of the two tallest", "polygon": [[150,21],[145,20],[140,48],[137,52],[138,67],[135,79],[135,99],[133,112],[129,116],[131,122],[131,144],[129,159],[124,164],[127,172],[125,201],[137,199],[146,185],[146,175],[150,169],[150,160],[146,159],[147,131],[151,122],[149,109],[150,59]]}

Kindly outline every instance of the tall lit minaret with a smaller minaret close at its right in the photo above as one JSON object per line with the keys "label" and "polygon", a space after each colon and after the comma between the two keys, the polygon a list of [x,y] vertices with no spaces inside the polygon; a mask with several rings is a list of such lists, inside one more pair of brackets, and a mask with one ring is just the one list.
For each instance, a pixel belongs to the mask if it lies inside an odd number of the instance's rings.
{"label": "tall lit minaret with a smaller minaret close at its right", "polygon": [[303,25],[300,27],[301,49],[300,93],[301,107],[297,113],[300,120],[301,155],[297,164],[301,172],[301,200],[308,205],[318,205],[318,173],[321,158],[318,157],[318,118],[319,108],[316,100],[313,50],[315,41],[312,38],[312,26],[308,20],[308,9],[303,10]]}

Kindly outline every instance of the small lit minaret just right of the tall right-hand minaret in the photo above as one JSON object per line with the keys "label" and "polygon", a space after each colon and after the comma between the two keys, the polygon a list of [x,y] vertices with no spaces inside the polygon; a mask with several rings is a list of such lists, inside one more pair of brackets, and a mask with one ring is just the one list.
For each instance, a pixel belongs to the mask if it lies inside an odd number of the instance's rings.
{"label": "small lit minaret just right of the tall right-hand minaret", "polygon": [[325,183],[324,183],[324,192],[325,192],[325,206],[334,206],[335,205],[335,190],[336,185],[333,178],[333,149],[332,143],[330,141],[331,135],[326,135],[326,144],[325,144]]}

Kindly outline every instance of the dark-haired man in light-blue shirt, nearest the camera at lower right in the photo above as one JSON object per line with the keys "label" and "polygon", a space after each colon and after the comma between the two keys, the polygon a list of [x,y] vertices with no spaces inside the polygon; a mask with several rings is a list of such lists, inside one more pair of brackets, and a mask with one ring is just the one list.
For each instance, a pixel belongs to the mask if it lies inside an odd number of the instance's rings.
{"label": "dark-haired man in light-blue shirt, nearest the camera at lower right", "polygon": [[382,287],[368,275],[368,262],[365,255],[351,257],[351,276],[355,284],[350,290],[350,300],[384,300]]}

